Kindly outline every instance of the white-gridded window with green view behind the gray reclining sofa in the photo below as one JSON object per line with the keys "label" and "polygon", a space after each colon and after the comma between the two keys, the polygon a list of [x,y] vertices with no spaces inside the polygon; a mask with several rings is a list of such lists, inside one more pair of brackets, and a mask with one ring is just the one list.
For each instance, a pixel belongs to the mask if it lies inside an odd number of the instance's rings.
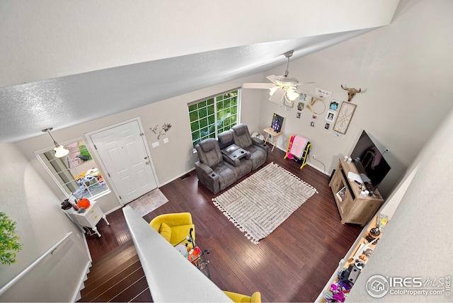
{"label": "white-gridded window with green view behind the gray reclining sofa", "polygon": [[240,90],[229,91],[189,104],[192,144],[215,138],[238,124]]}

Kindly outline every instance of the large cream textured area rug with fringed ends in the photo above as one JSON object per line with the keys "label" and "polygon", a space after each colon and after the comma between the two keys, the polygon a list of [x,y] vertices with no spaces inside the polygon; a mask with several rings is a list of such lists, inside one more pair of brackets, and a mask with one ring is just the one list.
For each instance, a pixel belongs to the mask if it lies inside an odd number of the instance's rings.
{"label": "large cream textured area rug with fringed ends", "polygon": [[268,236],[316,188],[270,163],[212,201],[254,244]]}

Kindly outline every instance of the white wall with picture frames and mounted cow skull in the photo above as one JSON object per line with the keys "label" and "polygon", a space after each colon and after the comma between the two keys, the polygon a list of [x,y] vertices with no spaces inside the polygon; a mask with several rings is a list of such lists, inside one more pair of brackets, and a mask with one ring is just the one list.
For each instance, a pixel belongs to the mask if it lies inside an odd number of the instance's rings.
{"label": "white wall with picture frames and mounted cow skull", "polygon": [[[390,25],[289,62],[289,76],[302,83],[316,82],[299,86],[311,93],[319,87],[345,101],[348,94],[341,84],[362,88],[352,99],[357,109],[340,139],[333,137],[333,130],[323,129],[326,113],[319,115],[313,128],[309,110],[297,119],[295,107],[287,112],[270,102],[263,103],[260,126],[270,125],[273,113],[285,117],[285,135],[278,146],[286,149],[293,133],[309,138],[311,154],[328,173],[366,130],[381,151],[390,149],[384,158],[391,171],[379,187],[388,197],[452,108],[453,40],[447,38],[453,28],[452,11],[452,1],[401,1]],[[282,66],[264,74],[284,70]],[[262,98],[268,98],[267,92]],[[319,161],[311,159],[311,164],[323,170]]]}

